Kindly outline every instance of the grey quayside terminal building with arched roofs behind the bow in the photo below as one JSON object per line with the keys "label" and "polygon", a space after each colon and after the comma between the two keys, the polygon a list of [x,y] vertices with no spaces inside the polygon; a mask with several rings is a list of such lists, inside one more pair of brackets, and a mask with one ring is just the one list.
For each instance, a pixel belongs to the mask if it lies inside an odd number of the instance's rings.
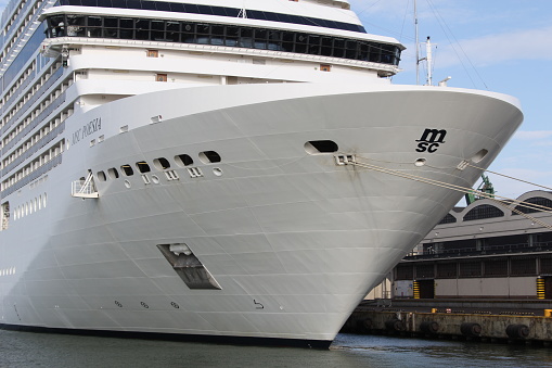
{"label": "grey quayside terminal building with arched roofs behind the bow", "polygon": [[[552,192],[517,201],[552,207]],[[367,299],[552,300],[552,213],[480,199],[455,207]]]}

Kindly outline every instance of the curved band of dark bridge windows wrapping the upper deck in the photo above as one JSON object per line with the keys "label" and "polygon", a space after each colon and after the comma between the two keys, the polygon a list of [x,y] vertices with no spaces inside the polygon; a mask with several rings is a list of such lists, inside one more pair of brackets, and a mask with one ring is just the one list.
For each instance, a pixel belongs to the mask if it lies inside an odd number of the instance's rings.
{"label": "curved band of dark bridge windows wrapping the upper deck", "polygon": [[62,14],[48,17],[48,37],[117,38],[303,53],[398,65],[400,49],[286,30],[151,18]]}

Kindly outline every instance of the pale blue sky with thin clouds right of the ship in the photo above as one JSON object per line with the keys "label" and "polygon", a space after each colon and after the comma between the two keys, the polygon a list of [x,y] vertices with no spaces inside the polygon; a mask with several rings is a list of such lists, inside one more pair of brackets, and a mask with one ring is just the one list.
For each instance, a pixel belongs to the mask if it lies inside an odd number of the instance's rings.
{"label": "pale blue sky with thin clouds right of the ship", "polygon": [[[393,83],[415,84],[413,0],[349,2],[368,33],[407,47]],[[552,0],[418,0],[418,17],[420,40],[431,36],[437,43],[434,84],[451,76],[449,87],[506,93],[522,103],[524,123],[489,169],[552,188]],[[488,176],[506,198],[541,189]]]}

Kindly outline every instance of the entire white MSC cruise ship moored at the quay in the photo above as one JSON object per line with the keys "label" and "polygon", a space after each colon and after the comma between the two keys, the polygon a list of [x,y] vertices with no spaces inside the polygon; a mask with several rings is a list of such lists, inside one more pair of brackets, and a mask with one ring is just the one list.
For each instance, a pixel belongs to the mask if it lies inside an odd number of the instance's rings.
{"label": "entire white MSC cruise ship moored at the quay", "polygon": [[347,0],[182,1],[4,9],[0,326],[328,347],[519,103],[393,85]]}

